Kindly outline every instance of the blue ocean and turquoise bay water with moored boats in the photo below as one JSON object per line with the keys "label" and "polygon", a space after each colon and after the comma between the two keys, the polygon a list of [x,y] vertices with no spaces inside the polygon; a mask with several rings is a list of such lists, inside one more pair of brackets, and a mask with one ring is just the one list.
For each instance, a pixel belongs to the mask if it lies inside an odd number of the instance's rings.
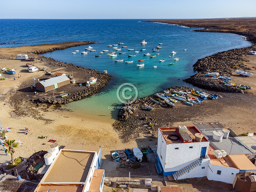
{"label": "blue ocean and turquoise bay water with moored boats", "polygon": [[[85,50],[88,45],[84,45],[43,55],[100,72],[107,70],[113,76],[109,85],[98,94],[63,106],[71,109],[74,114],[109,122],[113,122],[117,117],[118,110],[112,108],[120,106],[122,100],[128,100],[124,98],[132,100],[136,96],[145,97],[170,86],[191,86],[182,80],[196,73],[193,71],[193,64],[198,59],[251,45],[239,35],[193,32],[195,28],[147,23],[140,19],[0,19],[0,27],[0,43],[16,43],[4,44],[0,47],[72,41],[97,42],[90,45],[96,51]],[[147,44],[140,43],[144,39]],[[119,42],[123,44],[118,44]],[[107,45],[113,44],[118,44],[113,47],[121,48],[120,51],[116,51],[116,57],[107,55],[110,51],[114,51]],[[157,46],[162,48],[157,49],[158,52],[153,51],[152,49]],[[100,53],[105,49],[109,51]],[[141,51],[141,49],[145,50]],[[79,51],[72,54],[76,50]],[[82,51],[88,51],[88,54],[81,54]],[[135,53],[135,51],[139,52]],[[176,54],[171,54],[172,51]],[[156,57],[144,56],[145,53]],[[95,57],[95,55],[101,56]],[[128,55],[136,56],[128,57]],[[179,60],[174,61],[174,58]],[[123,61],[114,61],[118,59]],[[138,61],[139,59],[145,61]],[[125,61],[133,61],[133,63],[125,63]],[[139,63],[144,63],[144,66],[137,67]],[[153,66],[157,67],[153,68]],[[128,85],[118,90],[123,83],[131,83],[134,86]],[[124,88],[125,91],[122,91]]]}

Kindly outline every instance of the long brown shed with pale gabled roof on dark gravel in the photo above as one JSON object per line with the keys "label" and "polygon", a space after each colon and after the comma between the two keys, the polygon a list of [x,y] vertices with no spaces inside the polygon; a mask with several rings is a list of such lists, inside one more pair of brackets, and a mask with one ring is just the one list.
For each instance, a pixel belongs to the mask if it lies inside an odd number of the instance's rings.
{"label": "long brown shed with pale gabled roof on dark gravel", "polygon": [[39,81],[38,83],[35,83],[35,87],[37,90],[47,92],[49,90],[56,89],[69,83],[70,79],[62,75],[51,79],[47,79],[45,81]]}

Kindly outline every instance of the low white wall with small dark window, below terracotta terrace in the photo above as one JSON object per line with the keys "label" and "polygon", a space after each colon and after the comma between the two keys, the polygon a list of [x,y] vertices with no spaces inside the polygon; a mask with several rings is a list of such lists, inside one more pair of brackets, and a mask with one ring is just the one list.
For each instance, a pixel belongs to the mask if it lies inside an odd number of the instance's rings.
{"label": "low white wall with small dark window, below terracotta terrace", "polygon": [[[236,168],[230,168],[230,167],[222,167],[217,165],[212,165],[211,163],[208,164],[208,170],[207,170],[207,179],[214,180],[214,181],[222,181],[225,183],[233,184],[234,179],[239,173],[239,169]],[[217,171],[221,171],[221,175],[217,174]],[[232,173],[234,173],[232,175]]]}

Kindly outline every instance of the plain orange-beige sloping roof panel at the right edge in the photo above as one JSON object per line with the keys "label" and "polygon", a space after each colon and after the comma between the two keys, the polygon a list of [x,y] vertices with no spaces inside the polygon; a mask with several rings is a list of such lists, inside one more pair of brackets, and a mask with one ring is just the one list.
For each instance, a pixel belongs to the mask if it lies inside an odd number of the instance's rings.
{"label": "plain orange-beige sloping roof panel at the right edge", "polygon": [[256,166],[244,155],[229,155],[230,160],[240,170],[256,170]]}

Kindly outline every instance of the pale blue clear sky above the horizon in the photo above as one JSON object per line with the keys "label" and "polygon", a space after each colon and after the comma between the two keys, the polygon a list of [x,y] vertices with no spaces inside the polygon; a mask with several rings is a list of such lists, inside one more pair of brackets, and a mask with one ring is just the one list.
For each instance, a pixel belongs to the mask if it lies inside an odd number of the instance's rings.
{"label": "pale blue clear sky above the horizon", "polygon": [[202,19],[256,17],[244,0],[0,0],[1,19]]}

